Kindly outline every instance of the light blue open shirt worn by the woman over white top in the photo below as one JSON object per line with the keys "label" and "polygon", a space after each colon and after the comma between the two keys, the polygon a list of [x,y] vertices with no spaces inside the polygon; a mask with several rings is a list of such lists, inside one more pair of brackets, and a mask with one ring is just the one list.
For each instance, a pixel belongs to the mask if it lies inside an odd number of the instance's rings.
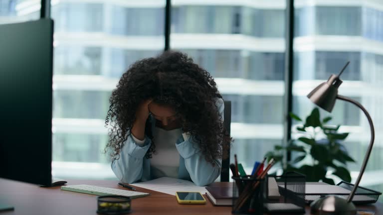
{"label": "light blue open shirt worn by the woman over white top", "polygon": [[[215,105],[223,121],[223,100],[217,99]],[[155,120],[152,122],[152,127],[154,127]],[[112,161],[112,170],[119,180],[131,184],[154,179],[150,173],[151,159],[145,158],[151,144],[149,137],[145,138],[143,145],[139,145],[132,135],[128,136],[120,151],[120,158]],[[197,186],[206,186],[218,178],[221,173],[221,159],[214,159],[214,165],[207,162],[192,136],[185,140],[183,135],[180,135],[175,144],[180,153],[179,179],[192,181]]]}

